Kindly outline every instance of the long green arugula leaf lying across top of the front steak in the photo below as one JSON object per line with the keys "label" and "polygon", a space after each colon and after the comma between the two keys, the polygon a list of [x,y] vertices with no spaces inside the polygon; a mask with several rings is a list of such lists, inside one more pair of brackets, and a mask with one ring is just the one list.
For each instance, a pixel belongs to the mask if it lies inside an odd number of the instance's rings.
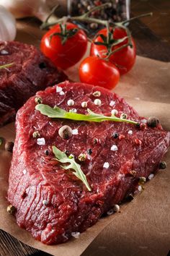
{"label": "long green arugula leaf lying across top of the front steak", "polygon": [[55,106],[54,108],[51,108],[48,105],[45,104],[37,104],[35,106],[35,109],[37,111],[40,111],[41,114],[48,116],[50,118],[61,118],[61,119],[71,119],[76,121],[124,121],[126,123],[130,124],[138,124],[136,121],[132,121],[129,119],[120,119],[117,116],[104,116],[103,114],[97,114],[91,111],[89,108],[87,109],[88,115],[84,114],[77,114],[73,112],[67,112],[63,110],[62,108],[58,108],[58,106]]}

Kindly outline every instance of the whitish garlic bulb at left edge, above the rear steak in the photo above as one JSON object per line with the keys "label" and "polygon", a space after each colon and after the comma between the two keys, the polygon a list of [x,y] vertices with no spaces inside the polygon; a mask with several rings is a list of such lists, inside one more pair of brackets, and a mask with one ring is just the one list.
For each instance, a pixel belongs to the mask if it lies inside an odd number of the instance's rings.
{"label": "whitish garlic bulb at left edge, above the rear steak", "polygon": [[14,40],[16,33],[14,16],[0,5],[0,40]]}

